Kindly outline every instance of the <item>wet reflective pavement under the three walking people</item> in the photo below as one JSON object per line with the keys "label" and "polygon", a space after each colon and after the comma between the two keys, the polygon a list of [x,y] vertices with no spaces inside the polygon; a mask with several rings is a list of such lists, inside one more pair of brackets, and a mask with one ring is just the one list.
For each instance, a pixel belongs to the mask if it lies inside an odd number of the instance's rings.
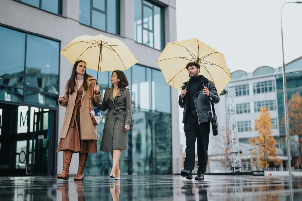
{"label": "wet reflective pavement under the three walking people", "polygon": [[302,176],[0,177],[0,201],[302,201]]}

